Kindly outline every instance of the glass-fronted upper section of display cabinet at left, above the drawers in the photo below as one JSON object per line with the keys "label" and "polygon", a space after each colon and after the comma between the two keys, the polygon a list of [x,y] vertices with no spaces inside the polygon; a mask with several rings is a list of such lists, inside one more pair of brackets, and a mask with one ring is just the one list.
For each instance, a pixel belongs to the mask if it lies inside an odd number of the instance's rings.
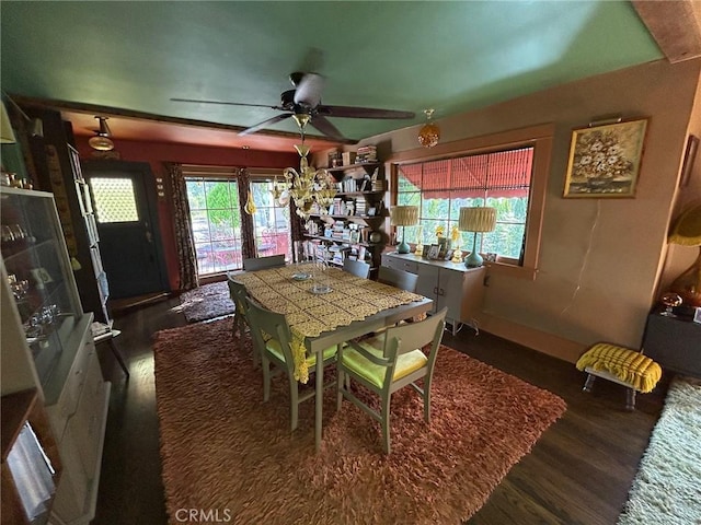
{"label": "glass-fronted upper section of display cabinet at left, above the drawers", "polygon": [[[66,382],[85,323],[54,195],[0,187],[0,252],[48,404]],[[54,398],[54,399],[53,399]]]}

